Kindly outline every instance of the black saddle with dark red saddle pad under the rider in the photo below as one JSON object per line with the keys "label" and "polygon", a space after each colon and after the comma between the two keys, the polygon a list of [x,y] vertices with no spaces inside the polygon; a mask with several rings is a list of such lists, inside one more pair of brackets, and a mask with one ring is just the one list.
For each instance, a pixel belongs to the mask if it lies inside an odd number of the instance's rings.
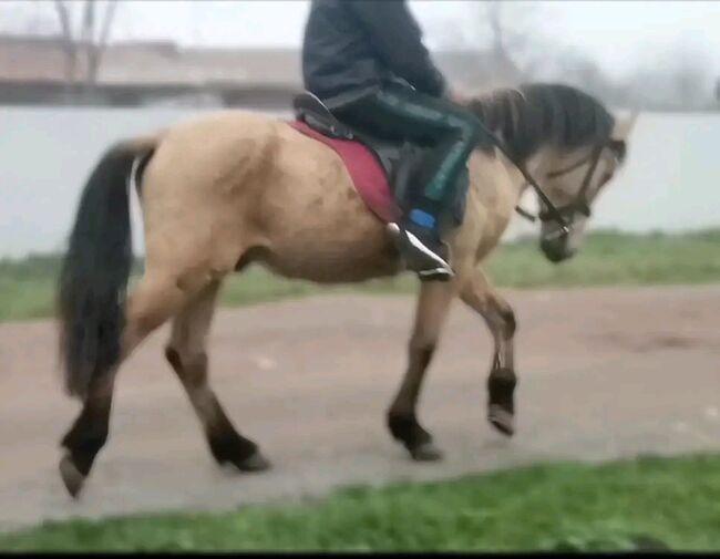
{"label": "black saddle with dark red saddle pad under the rider", "polygon": [[[430,148],[409,142],[394,142],[369,135],[340,122],[332,112],[310,92],[297,95],[292,103],[298,132],[332,147],[342,158],[353,178],[356,189],[370,209],[384,221],[409,210],[413,195],[423,182],[422,163]],[[364,152],[364,153],[363,153]],[[362,157],[364,155],[364,157]],[[369,155],[369,157],[368,157]],[[359,159],[362,158],[362,165]],[[374,165],[376,169],[367,167]],[[368,172],[374,178],[368,177]],[[456,191],[462,195],[452,204],[454,226],[462,224],[467,190],[467,169],[461,174]],[[382,207],[395,205],[395,208]]]}

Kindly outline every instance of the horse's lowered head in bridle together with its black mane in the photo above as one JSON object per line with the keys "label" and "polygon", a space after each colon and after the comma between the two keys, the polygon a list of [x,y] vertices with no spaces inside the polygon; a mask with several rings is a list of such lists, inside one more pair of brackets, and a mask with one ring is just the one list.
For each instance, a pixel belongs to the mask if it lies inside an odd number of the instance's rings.
{"label": "horse's lowered head in bridle together with its black mane", "polygon": [[469,107],[502,138],[515,164],[532,169],[569,226],[563,235],[554,213],[539,200],[541,248],[547,259],[570,258],[583,242],[593,203],[625,163],[637,114],[617,118],[577,87],[545,83],[493,90]]}

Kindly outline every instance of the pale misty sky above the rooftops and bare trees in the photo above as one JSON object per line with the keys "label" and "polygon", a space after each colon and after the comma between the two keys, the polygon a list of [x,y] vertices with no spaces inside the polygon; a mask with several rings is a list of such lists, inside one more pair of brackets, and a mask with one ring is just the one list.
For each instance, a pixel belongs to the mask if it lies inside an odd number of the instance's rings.
{"label": "pale misty sky above the rooftops and bare trees", "polygon": [[[52,22],[51,1],[0,2],[0,20],[44,11]],[[568,48],[590,54],[605,70],[623,74],[639,63],[661,64],[679,50],[704,53],[720,73],[720,1],[503,1],[526,29]],[[14,6],[13,6],[14,4]],[[426,31],[430,46],[442,35],[469,37],[476,22],[477,42],[487,31],[477,1],[412,0],[411,9]],[[13,13],[9,13],[13,12]],[[112,38],[169,38],[185,44],[300,44],[308,12],[304,0],[126,1],[117,13]],[[522,19],[522,18],[521,18]],[[527,23],[527,22],[526,22]]]}

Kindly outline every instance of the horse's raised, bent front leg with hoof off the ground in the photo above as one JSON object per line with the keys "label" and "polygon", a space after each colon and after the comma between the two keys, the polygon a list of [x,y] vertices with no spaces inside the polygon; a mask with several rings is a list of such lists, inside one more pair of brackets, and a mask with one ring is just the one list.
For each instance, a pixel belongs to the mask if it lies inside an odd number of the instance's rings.
{"label": "horse's raised, bent front leg with hoof off the ground", "polygon": [[476,269],[471,280],[463,284],[460,297],[465,304],[485,319],[493,334],[495,352],[487,377],[487,420],[497,431],[512,436],[515,432],[514,396],[517,384],[513,349],[516,330],[515,313],[480,269]]}

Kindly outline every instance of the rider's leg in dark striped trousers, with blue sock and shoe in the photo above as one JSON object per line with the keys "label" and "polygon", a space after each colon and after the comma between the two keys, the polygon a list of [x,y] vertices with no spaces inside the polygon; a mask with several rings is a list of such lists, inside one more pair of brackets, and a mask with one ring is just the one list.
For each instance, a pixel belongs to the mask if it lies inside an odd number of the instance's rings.
{"label": "rider's leg in dark striped trousers, with blue sock and shoe", "polygon": [[433,146],[430,177],[422,188],[411,189],[409,210],[399,225],[401,250],[421,279],[449,279],[446,247],[440,224],[457,195],[459,174],[480,138],[474,115],[450,101],[423,95],[407,87],[389,87],[337,108],[348,124],[368,133]]}

